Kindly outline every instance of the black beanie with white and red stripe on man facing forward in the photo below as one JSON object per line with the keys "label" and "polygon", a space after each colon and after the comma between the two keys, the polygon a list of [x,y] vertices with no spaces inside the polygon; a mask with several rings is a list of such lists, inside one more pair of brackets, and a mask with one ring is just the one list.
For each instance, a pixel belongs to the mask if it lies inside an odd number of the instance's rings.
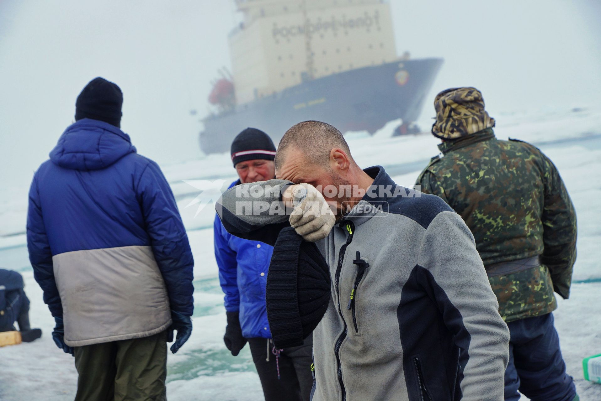
{"label": "black beanie with white and red stripe on man facing forward", "polygon": [[273,141],[257,128],[246,128],[237,134],[231,143],[231,161],[236,164],[246,160],[273,160],[275,158],[275,146]]}

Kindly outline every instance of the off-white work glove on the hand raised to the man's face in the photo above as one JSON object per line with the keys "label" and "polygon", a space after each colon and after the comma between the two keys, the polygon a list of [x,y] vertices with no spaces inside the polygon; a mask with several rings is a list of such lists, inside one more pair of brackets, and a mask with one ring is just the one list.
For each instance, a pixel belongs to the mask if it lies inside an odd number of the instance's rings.
{"label": "off-white work glove on the hand raised to the man's face", "polygon": [[290,225],[302,239],[314,243],[328,237],[336,217],[325,197],[311,184],[295,185]]}

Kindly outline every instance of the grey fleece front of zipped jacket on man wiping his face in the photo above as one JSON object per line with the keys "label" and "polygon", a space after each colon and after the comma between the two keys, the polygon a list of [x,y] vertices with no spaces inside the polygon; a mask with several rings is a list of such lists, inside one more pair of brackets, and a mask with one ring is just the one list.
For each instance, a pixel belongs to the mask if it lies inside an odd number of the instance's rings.
{"label": "grey fleece front of zipped jacket on man wiping his face", "polygon": [[[412,268],[424,229],[408,217],[370,213],[371,219],[351,219],[353,240],[344,252],[341,268],[340,310],[347,335],[340,346],[340,360],[347,401],[409,400],[404,378],[403,348],[397,321],[401,290]],[[387,228],[383,230],[383,226]],[[394,227],[403,228],[395,230]],[[346,228],[335,227],[326,238],[325,250],[332,277],[335,276],[340,247],[346,242]],[[347,309],[357,276],[353,264],[356,252],[370,267],[355,292],[353,310]],[[338,314],[338,295],[332,280],[332,301],[322,322],[313,332],[317,388],[314,401],[340,400],[335,380],[337,361],[334,350],[343,334],[344,322]]]}

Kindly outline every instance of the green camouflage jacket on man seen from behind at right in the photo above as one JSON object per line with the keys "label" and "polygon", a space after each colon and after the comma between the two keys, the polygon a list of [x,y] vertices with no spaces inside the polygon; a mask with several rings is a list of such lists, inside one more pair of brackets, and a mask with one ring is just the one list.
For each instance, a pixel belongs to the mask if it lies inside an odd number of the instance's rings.
{"label": "green camouflage jacket on man seen from behind at right", "polygon": [[[471,229],[503,319],[555,310],[553,292],[569,297],[576,260],[576,214],[555,165],[529,143],[497,140],[492,128],[439,149],[416,185],[442,197]],[[532,256],[540,265],[515,273],[491,266]]]}

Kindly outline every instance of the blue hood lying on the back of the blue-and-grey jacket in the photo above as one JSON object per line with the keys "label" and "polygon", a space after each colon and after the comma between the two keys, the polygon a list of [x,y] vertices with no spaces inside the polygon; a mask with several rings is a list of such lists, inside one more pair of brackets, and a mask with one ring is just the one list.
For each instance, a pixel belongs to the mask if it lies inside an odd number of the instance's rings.
{"label": "blue hood lying on the back of the blue-and-grey jacket", "polygon": [[135,152],[129,135],[119,128],[84,118],[67,127],[50,152],[50,160],[67,169],[99,170]]}

